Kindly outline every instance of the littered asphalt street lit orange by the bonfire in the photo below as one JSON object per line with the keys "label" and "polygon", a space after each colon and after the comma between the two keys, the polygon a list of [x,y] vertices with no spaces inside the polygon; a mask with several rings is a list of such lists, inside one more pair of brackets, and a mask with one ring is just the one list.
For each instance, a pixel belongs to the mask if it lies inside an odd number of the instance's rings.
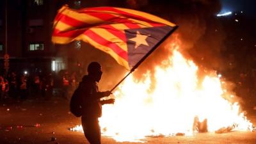
{"label": "littered asphalt street lit orange by the bonfire", "polygon": [[[0,144],[70,144],[88,143],[81,132],[69,131],[70,127],[81,124],[80,119],[68,112],[68,100],[53,97],[26,101],[8,100],[0,102]],[[248,119],[256,124],[255,111],[248,113]],[[195,136],[147,137],[145,143],[256,143],[256,132],[227,132],[223,134],[198,133]],[[116,142],[102,136],[102,143]]]}

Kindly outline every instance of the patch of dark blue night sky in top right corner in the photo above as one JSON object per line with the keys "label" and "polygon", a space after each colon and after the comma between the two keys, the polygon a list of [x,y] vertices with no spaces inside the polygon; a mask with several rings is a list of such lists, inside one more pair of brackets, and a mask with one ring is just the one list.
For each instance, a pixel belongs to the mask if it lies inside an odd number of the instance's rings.
{"label": "patch of dark blue night sky in top right corner", "polygon": [[243,11],[249,17],[256,17],[255,0],[221,0],[221,12],[241,12]]}

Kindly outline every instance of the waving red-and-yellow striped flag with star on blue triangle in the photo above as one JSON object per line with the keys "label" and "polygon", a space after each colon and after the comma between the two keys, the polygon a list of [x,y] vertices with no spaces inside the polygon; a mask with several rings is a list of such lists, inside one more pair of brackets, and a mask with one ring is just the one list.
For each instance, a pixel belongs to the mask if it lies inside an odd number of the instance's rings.
{"label": "waving red-and-yellow striped flag with star on blue triangle", "polygon": [[72,10],[63,6],[54,19],[52,42],[83,40],[131,70],[156,49],[176,25],[145,12],[114,7]]}

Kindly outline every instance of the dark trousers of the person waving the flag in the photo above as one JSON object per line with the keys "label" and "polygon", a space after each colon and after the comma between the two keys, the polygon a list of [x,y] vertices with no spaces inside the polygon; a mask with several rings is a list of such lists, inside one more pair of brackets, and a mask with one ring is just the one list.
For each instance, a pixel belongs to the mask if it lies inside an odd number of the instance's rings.
{"label": "dark trousers of the person waving the flag", "polygon": [[98,118],[82,116],[84,136],[90,144],[100,144],[100,125]]}

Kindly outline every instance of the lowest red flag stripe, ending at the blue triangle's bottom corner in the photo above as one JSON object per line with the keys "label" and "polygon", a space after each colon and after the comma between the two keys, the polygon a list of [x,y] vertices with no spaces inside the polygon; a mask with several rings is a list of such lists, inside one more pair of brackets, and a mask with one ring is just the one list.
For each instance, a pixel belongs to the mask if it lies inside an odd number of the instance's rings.
{"label": "lowest red flag stripe, ending at the blue triangle's bottom corner", "polygon": [[100,45],[104,45],[106,47],[109,47],[109,49],[112,49],[118,56],[124,58],[124,60],[128,61],[127,52],[124,51],[122,48],[120,48],[118,45],[116,45],[113,42],[109,42],[108,40],[104,39],[102,36],[97,35],[97,33],[93,32],[92,30],[88,29],[84,33],[84,35],[90,37],[92,40],[97,42]]}

